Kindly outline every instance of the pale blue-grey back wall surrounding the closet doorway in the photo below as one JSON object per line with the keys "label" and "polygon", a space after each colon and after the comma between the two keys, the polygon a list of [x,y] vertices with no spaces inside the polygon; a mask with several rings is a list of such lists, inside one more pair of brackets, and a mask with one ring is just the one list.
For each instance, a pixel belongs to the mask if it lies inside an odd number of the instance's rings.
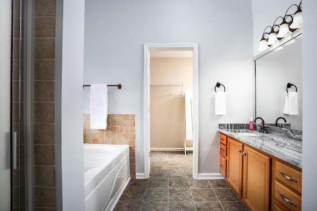
{"label": "pale blue-grey back wall surrounding the closet doorway", "polygon": [[[143,44],[199,43],[199,173],[212,174],[217,124],[247,123],[253,113],[252,27],[251,0],[86,1],[84,84],[122,84],[109,89],[108,112],[136,114],[137,173],[144,172]],[[225,116],[214,115],[217,82],[226,87]]]}

